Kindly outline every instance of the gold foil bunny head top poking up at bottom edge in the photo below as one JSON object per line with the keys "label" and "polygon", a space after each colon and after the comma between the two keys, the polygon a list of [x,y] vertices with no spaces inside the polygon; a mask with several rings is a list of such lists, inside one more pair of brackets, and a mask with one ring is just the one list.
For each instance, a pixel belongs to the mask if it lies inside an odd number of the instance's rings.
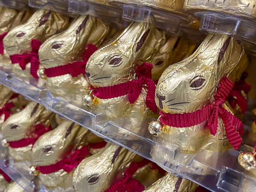
{"label": "gold foil bunny head top poking up at bottom edge", "polygon": [[190,180],[167,174],[143,192],[194,192],[197,187],[198,184]]}

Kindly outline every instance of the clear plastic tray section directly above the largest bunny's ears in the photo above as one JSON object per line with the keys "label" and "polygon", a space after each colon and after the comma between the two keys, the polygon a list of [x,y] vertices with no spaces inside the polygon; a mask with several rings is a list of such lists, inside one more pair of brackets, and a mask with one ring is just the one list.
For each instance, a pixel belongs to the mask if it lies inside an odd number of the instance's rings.
{"label": "clear plastic tray section directly above the largest bunny's ears", "polygon": [[256,21],[211,11],[195,12],[194,15],[201,19],[200,30],[231,35],[239,41],[256,44]]}

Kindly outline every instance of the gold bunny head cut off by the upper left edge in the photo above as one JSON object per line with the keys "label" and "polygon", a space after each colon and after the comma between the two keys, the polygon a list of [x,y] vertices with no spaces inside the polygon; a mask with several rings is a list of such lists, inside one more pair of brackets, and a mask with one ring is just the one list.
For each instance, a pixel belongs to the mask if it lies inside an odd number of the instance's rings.
{"label": "gold bunny head cut off by the upper left edge", "polygon": [[17,13],[15,9],[0,6],[0,35],[8,32]]}

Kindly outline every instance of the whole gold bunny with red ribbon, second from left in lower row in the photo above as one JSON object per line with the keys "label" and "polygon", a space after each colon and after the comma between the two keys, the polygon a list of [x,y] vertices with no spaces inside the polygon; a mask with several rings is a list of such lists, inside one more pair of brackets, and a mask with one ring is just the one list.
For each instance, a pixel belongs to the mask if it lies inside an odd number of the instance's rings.
{"label": "whole gold bunny with red ribbon, second from left in lower row", "polygon": [[73,186],[72,170],[89,154],[84,139],[88,133],[87,129],[64,120],[35,142],[32,157],[47,189]]}

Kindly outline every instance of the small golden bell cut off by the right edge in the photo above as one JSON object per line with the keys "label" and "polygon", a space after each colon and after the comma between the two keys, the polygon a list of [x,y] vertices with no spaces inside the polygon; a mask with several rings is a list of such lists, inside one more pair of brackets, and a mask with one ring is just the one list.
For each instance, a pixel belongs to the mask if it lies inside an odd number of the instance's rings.
{"label": "small golden bell cut off by the right edge", "polygon": [[256,169],[256,160],[251,152],[242,152],[238,157],[238,163],[246,170]]}

